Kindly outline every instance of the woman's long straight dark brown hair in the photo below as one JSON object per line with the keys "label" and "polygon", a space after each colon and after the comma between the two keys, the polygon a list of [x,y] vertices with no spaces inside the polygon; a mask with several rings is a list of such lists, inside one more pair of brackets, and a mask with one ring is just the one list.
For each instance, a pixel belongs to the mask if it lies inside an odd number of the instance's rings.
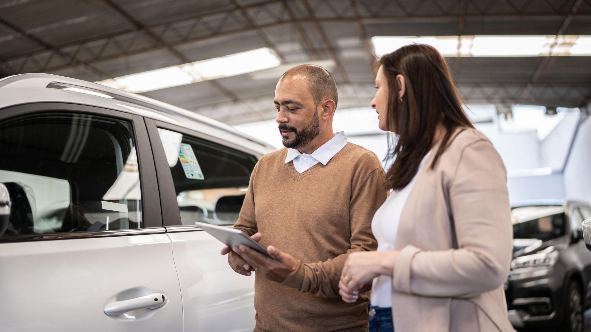
{"label": "woman's long straight dark brown hair", "polygon": [[[446,61],[432,46],[406,45],[384,54],[376,67],[388,81],[388,128],[397,135],[388,137],[387,161],[394,160],[387,171],[388,187],[401,190],[406,187],[433,147],[439,125],[445,135],[441,139],[431,169],[447,148],[456,128],[474,128],[462,109],[462,97],[453,84]],[[405,79],[402,103],[398,101],[398,80]]]}

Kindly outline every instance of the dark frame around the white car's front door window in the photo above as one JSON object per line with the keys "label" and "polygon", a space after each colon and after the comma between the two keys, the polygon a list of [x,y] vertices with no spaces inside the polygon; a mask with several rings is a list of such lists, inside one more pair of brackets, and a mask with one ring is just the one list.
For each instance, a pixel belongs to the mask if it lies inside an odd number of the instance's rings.
{"label": "dark frame around the white car's front door window", "polygon": [[[21,242],[31,240],[76,239],[80,237],[127,236],[161,233],[163,230],[160,207],[160,193],[156,181],[154,158],[151,154],[150,139],[145,127],[144,118],[139,115],[118,110],[99,108],[96,106],[80,105],[76,103],[27,103],[1,109],[0,121],[6,121],[24,115],[42,115],[43,113],[79,113],[106,116],[131,122],[135,150],[138,154],[139,183],[142,193],[142,224],[141,229],[101,230],[98,232],[56,233],[1,236],[2,242]],[[101,235],[105,234],[105,235]]]}

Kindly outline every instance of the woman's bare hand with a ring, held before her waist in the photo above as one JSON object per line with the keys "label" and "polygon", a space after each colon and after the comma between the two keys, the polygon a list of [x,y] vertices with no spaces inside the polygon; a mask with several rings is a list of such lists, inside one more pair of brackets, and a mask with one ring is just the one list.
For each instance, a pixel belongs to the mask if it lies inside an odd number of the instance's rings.
{"label": "woman's bare hand with a ring, held before her waist", "polygon": [[343,301],[357,301],[362,288],[371,285],[376,276],[392,275],[397,257],[398,251],[351,253],[340,276],[339,294]]}

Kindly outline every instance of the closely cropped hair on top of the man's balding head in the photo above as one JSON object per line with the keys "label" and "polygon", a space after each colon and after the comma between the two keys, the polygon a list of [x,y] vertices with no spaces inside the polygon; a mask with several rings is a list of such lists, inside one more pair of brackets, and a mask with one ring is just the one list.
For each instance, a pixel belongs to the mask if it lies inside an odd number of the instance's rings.
{"label": "closely cropped hair on top of the man's balding head", "polygon": [[314,105],[322,100],[332,99],[335,101],[335,108],[339,93],[336,90],[336,82],[328,70],[315,64],[301,64],[285,71],[279,81],[286,77],[302,77],[308,83],[308,88],[314,99]]}

